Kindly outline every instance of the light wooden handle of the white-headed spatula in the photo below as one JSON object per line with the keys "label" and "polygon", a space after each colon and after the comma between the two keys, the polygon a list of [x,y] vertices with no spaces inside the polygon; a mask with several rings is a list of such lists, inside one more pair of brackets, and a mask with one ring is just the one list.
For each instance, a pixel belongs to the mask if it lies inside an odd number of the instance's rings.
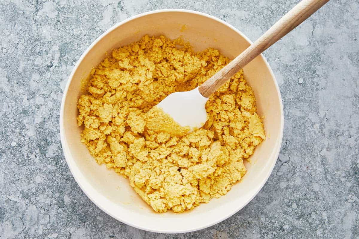
{"label": "light wooden handle of the white-headed spatula", "polygon": [[264,52],[265,49],[272,46],[272,44],[297,27],[328,1],[329,0],[303,0],[298,3],[292,10],[290,10],[271,28],[269,28],[267,32],[258,38],[250,47],[229,62],[227,66],[222,68],[222,70],[215,73],[215,75],[200,85],[199,92],[204,97],[209,97],[236,72],[241,70],[244,66],[246,66],[246,64]]}

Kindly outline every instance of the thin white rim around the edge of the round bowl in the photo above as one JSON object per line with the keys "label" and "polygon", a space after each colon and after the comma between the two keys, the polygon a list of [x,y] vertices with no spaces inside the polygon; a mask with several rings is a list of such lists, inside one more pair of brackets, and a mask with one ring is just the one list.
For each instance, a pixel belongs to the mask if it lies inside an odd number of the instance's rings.
{"label": "thin white rim around the edge of the round bowl", "polygon": [[65,99],[66,99],[66,95],[67,95],[67,91],[69,90],[69,86],[71,81],[73,80],[73,76],[74,73],[76,72],[77,68],[79,67],[80,62],[85,58],[85,56],[88,54],[89,51],[91,51],[91,49],[93,48],[93,46],[99,42],[102,38],[104,38],[108,33],[112,32],[114,29],[116,29],[117,27],[119,27],[120,25],[123,25],[131,20],[134,20],[136,18],[141,18],[143,16],[146,15],[151,15],[151,14],[157,14],[157,13],[164,13],[164,12],[177,12],[177,13],[191,13],[191,14],[196,14],[196,15],[200,15],[200,16],[205,16],[207,18],[213,19],[215,21],[218,21],[219,23],[224,24],[225,26],[231,28],[232,30],[234,30],[235,32],[237,32],[239,35],[241,35],[245,40],[247,40],[247,42],[249,42],[250,44],[253,44],[253,42],[246,36],[244,35],[241,31],[239,31],[237,28],[233,27],[232,25],[230,25],[229,23],[206,13],[202,13],[200,11],[194,11],[194,10],[187,10],[187,9],[160,9],[160,10],[154,10],[154,11],[147,11],[145,13],[140,13],[134,16],[131,16],[130,18],[127,18],[123,21],[120,21],[119,23],[116,23],[115,25],[113,25],[111,28],[109,28],[108,30],[106,30],[104,33],[102,33],[96,40],[94,40],[94,42],[92,44],[90,44],[90,46],[86,49],[86,51],[81,55],[81,57],[78,59],[78,61],[76,62],[75,67],[73,68],[73,70],[71,71],[71,74],[69,76],[69,78],[67,79],[66,82],[66,86],[65,89],[63,91],[63,95],[62,95],[62,100],[61,100],[61,107],[60,107],[60,138],[61,138],[61,146],[62,146],[62,151],[64,153],[65,159],[66,159],[66,163],[70,169],[71,174],[73,175],[75,181],[77,182],[77,184],[79,185],[79,187],[81,188],[81,190],[85,193],[85,195],[97,206],[99,207],[102,211],[106,212],[106,214],[108,214],[109,216],[111,216],[112,218],[115,218],[116,220],[125,223],[127,225],[130,225],[132,227],[141,229],[141,230],[146,230],[146,231],[151,231],[151,232],[155,232],[155,233],[187,233],[187,232],[192,232],[192,231],[197,231],[197,230],[201,230],[204,228],[208,228],[209,226],[215,225],[217,223],[220,223],[221,221],[229,218],[230,216],[234,215],[235,213],[237,213],[239,210],[241,210],[244,206],[246,206],[257,194],[258,192],[262,189],[262,187],[264,186],[264,184],[267,182],[269,176],[271,175],[273,168],[277,162],[278,156],[279,156],[279,152],[280,152],[280,148],[281,148],[281,143],[283,140],[283,131],[284,131],[284,110],[283,110],[283,102],[282,102],[282,97],[280,94],[280,90],[279,90],[279,86],[278,86],[278,82],[274,76],[274,73],[271,69],[271,67],[269,66],[269,63],[267,62],[267,59],[260,54],[260,57],[264,60],[266,67],[269,69],[270,75],[274,80],[275,83],[275,88],[278,94],[278,99],[279,99],[279,103],[280,103],[280,135],[279,135],[279,139],[277,141],[277,143],[279,142],[280,145],[277,148],[277,150],[275,152],[272,152],[272,155],[274,155],[277,159],[274,160],[272,162],[272,165],[270,165],[270,171],[268,171],[266,177],[264,180],[262,180],[262,182],[260,183],[260,187],[258,187],[258,190],[253,193],[253,195],[250,197],[250,199],[245,202],[242,206],[237,207],[236,209],[234,209],[233,211],[230,211],[228,214],[226,214],[225,216],[222,216],[221,218],[218,218],[216,220],[214,220],[212,223],[208,223],[205,225],[200,225],[200,226],[195,226],[194,228],[190,228],[190,229],[184,229],[184,230],[157,230],[157,229],[152,229],[152,228],[148,228],[146,226],[143,225],[136,225],[134,223],[131,223],[130,221],[127,221],[126,218],[119,218],[117,215],[113,214],[111,211],[108,211],[106,209],[104,209],[104,207],[101,206],[100,203],[98,203],[97,201],[95,201],[93,199],[93,197],[91,195],[89,195],[89,193],[85,190],[85,187],[83,185],[83,183],[81,182],[81,179],[78,175],[76,175],[74,173],[74,169],[71,167],[71,163],[70,163],[70,152],[67,152],[66,147],[64,147],[67,144],[66,141],[66,137],[65,137],[65,130],[64,130],[64,108],[65,108]]}

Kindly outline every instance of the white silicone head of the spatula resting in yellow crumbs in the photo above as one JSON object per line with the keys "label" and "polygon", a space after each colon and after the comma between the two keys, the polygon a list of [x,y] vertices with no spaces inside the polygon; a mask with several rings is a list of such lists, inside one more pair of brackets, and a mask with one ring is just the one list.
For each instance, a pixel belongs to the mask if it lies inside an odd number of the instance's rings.
{"label": "white silicone head of the spatula resting in yellow crumbs", "polygon": [[205,105],[208,99],[201,95],[197,87],[190,91],[174,92],[159,102],[157,107],[171,115],[178,124],[189,126],[193,131],[207,121]]}

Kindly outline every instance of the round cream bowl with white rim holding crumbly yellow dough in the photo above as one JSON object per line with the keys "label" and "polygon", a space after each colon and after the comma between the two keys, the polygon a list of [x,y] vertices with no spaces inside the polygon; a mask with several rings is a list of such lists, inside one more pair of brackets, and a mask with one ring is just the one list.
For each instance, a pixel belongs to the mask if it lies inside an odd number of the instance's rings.
{"label": "round cream bowl with white rim holding crumbly yellow dough", "polygon": [[139,229],[159,233],[184,233],[219,223],[244,207],[262,188],[278,158],[283,136],[283,105],[273,72],[261,55],[244,67],[253,88],[258,114],[263,117],[267,139],[255,149],[247,173],[227,195],[212,199],[180,214],[157,213],[131,188],[128,179],[98,165],[80,142],[83,128],[76,122],[77,100],[83,81],[112,49],[139,40],[143,35],[182,36],[195,51],[213,47],[224,56],[236,57],[251,41],[239,30],[213,16],[190,10],[158,10],[133,16],[116,24],[95,40],[76,63],[61,102],[60,134],[63,152],[76,182],[108,215]]}

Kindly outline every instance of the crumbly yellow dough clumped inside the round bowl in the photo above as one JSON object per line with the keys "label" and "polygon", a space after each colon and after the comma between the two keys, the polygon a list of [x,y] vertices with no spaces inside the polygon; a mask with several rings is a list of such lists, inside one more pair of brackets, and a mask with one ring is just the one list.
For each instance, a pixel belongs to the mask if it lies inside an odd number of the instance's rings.
{"label": "crumbly yellow dough clumped inside the round bowl", "polygon": [[172,92],[194,89],[228,62],[216,49],[196,53],[164,36],[145,35],[114,49],[78,100],[81,141],[99,164],[129,178],[157,212],[183,212],[225,195],[246,173],[243,159],[265,139],[243,71],[210,97],[207,122],[189,134],[171,130],[171,119],[152,108]]}

